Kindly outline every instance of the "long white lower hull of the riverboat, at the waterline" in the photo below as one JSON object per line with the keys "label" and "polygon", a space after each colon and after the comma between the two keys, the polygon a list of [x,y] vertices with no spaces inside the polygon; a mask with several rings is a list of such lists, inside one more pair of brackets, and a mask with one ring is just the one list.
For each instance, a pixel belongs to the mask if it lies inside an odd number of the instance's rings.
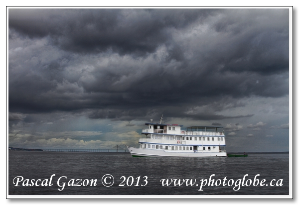
{"label": "long white lower hull of the riverboat, at the waterline", "polygon": [[227,157],[226,152],[175,152],[127,147],[133,157]]}

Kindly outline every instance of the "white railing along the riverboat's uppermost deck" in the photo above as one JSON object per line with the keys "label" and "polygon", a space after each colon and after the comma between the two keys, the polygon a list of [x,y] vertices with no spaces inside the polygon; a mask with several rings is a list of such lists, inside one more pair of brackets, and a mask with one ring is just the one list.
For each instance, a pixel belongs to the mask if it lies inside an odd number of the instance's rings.
{"label": "white railing along the riverboat's uppermost deck", "polygon": [[166,129],[142,129],[142,133],[161,133],[161,134],[173,134],[173,135],[197,135],[197,136],[224,136],[224,132],[203,132],[203,131],[178,131],[178,130],[166,130]]}

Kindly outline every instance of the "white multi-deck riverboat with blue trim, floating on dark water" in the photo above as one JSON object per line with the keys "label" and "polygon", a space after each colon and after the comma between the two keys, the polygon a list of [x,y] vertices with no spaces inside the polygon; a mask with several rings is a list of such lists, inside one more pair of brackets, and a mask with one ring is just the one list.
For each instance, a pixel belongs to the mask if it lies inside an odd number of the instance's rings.
{"label": "white multi-deck riverboat with blue trim, floating on dark water", "polygon": [[[224,128],[146,123],[139,148],[129,147],[133,157],[226,157]],[[221,149],[223,147],[223,149]]]}

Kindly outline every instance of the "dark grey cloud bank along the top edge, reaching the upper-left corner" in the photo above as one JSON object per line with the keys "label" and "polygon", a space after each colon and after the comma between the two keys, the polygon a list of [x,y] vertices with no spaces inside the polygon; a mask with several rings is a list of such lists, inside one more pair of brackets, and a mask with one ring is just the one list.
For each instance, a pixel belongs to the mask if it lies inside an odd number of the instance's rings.
{"label": "dark grey cloud bank along the top edge, reaching the upper-left corner", "polygon": [[214,9],[9,9],[9,28],[53,38],[65,50],[120,54],[153,52],[167,43],[168,28],[180,29]]}

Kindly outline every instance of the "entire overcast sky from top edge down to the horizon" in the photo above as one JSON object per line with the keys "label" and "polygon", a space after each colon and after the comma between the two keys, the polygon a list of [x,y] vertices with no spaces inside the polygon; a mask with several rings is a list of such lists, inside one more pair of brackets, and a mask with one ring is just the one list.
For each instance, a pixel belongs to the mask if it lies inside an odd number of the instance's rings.
{"label": "entire overcast sky from top edge down to the horizon", "polygon": [[164,123],[289,151],[289,9],[9,9],[9,146],[137,146]]}

